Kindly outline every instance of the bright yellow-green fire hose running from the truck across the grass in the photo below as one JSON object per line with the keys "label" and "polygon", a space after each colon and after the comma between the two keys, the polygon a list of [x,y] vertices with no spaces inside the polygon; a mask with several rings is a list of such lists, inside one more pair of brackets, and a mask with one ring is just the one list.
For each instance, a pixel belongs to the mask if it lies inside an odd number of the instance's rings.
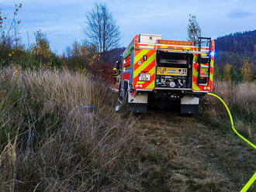
{"label": "bright yellow-green fire hose running from the truck across the grass", "polygon": [[[227,113],[228,115],[230,116],[230,122],[231,122],[231,127],[233,129],[233,131],[240,137],[240,139],[243,139],[244,142],[247,142],[248,145],[250,145],[252,148],[256,149],[256,146],[248,141],[247,139],[245,139],[242,135],[240,135],[239,132],[237,132],[237,130],[234,128],[234,122],[233,122],[233,118],[232,118],[232,115],[230,113],[230,109],[227,107],[227,104],[223,101],[222,98],[220,98],[218,95],[216,94],[212,94],[212,93],[208,93],[209,95],[212,95],[213,97],[215,98],[218,98],[222,103],[223,105],[225,106],[225,108],[227,109]],[[254,173],[254,175],[251,177],[251,179],[246,183],[246,185],[243,187],[242,190],[240,190],[240,192],[246,192],[250,187],[251,185],[254,183],[254,181],[256,180],[256,172]]]}

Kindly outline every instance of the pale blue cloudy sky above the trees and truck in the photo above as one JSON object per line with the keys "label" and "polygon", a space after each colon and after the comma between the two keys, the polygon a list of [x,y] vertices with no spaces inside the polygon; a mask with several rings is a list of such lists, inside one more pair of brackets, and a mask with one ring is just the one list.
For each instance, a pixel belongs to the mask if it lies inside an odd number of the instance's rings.
{"label": "pale blue cloudy sky above the trees and truck", "polygon": [[[67,45],[84,38],[81,26],[93,0],[0,0],[2,12],[11,15],[14,5],[22,3],[19,12],[22,43],[30,44],[33,32],[47,33],[50,47],[62,53]],[[229,33],[256,29],[256,0],[106,0],[123,34],[127,46],[136,33],[161,34],[162,39],[184,40],[189,13],[196,15],[202,36],[216,38]]]}

